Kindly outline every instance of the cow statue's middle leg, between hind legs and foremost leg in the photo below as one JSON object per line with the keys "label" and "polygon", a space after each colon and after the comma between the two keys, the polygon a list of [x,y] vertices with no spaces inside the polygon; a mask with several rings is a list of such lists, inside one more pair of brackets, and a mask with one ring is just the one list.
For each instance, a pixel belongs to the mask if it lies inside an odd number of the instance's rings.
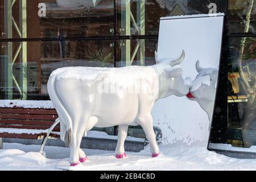
{"label": "cow statue's middle leg, between hind legs and foremost leg", "polygon": [[127,130],[129,125],[118,126],[118,140],[117,147],[115,147],[115,154],[118,159],[125,158],[125,139],[127,137]]}

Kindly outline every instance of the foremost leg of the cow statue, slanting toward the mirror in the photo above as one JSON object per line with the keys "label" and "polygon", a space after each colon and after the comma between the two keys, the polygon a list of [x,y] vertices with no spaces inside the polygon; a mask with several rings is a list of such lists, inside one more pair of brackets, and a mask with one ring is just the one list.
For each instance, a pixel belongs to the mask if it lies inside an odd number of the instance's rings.
{"label": "foremost leg of the cow statue, slanting toward the mirror", "polygon": [[151,114],[143,115],[143,117],[139,118],[139,124],[142,126],[148,142],[150,143],[150,151],[152,153],[152,157],[159,155],[159,147],[156,143],[155,133],[153,129],[153,118]]}

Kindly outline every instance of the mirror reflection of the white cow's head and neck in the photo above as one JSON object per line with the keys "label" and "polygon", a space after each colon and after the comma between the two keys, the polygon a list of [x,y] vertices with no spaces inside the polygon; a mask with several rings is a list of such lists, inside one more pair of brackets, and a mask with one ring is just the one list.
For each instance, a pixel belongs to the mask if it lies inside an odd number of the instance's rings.
{"label": "mirror reflection of the white cow's head and neck", "polygon": [[202,68],[200,62],[196,62],[196,71],[198,75],[192,82],[190,78],[186,78],[189,85],[189,93],[187,97],[189,100],[197,101],[201,108],[207,113],[210,122],[212,121],[214,101],[218,80],[218,69],[216,68]]}

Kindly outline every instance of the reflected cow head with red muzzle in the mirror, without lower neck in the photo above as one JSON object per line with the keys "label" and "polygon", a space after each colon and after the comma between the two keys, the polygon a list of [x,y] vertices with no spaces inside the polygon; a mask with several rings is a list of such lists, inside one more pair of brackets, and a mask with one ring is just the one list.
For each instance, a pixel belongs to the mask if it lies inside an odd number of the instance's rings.
{"label": "reflected cow head with red muzzle in the mirror, without lower neck", "polygon": [[198,75],[195,80],[189,84],[188,99],[195,101],[208,100],[213,102],[217,87],[218,69],[202,68],[200,62],[197,61],[196,71]]}

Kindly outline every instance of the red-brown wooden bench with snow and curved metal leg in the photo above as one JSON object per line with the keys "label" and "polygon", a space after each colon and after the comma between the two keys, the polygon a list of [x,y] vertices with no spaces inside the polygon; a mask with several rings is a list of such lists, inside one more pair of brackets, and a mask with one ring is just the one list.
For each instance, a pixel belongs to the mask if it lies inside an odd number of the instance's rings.
{"label": "red-brown wooden bench with snow and curved metal leg", "polygon": [[[53,106],[48,106],[50,107],[48,109],[23,106],[29,102],[34,106],[38,103],[38,101],[0,101],[0,138],[43,139],[40,149],[40,152],[43,152],[48,138],[60,137],[59,121],[55,122],[58,115]],[[48,102],[51,104],[50,101]],[[2,139],[0,148],[1,146]]]}

